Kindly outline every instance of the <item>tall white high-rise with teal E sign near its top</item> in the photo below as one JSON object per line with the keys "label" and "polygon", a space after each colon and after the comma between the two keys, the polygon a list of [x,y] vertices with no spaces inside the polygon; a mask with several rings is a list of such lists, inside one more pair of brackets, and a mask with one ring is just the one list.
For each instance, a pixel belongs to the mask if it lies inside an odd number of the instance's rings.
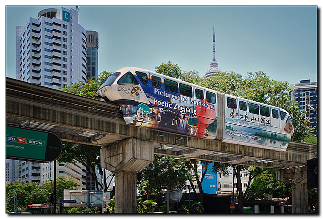
{"label": "tall white high-rise with teal E sign near its top", "polygon": [[86,81],[86,41],[78,11],[40,11],[16,27],[16,78],[55,89]]}

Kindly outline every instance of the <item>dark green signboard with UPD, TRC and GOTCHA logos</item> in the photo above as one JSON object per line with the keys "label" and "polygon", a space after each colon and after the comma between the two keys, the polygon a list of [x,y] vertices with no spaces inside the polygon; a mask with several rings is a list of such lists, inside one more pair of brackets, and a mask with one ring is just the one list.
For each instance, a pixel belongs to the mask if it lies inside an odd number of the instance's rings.
{"label": "dark green signboard with UPD, TRC and GOTCHA logos", "polygon": [[61,153],[62,141],[56,134],[6,125],[6,158],[44,163]]}

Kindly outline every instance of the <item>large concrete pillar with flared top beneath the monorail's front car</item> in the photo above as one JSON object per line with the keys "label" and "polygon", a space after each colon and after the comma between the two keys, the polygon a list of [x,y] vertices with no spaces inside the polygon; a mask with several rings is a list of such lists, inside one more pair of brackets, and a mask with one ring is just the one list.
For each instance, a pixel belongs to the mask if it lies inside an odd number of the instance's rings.
{"label": "large concrete pillar with flared top beneath the monorail's front car", "polygon": [[115,172],[116,213],[136,213],[137,173],[153,162],[153,142],[129,138],[101,149],[101,166]]}

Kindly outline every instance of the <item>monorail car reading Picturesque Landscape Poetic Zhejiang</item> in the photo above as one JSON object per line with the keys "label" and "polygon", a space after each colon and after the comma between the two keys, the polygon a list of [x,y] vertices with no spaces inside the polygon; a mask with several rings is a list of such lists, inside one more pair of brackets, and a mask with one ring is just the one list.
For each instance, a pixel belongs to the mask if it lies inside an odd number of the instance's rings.
{"label": "monorail car reading Picturesque Landscape Poetic Zhejiang", "polygon": [[98,90],[115,102],[125,122],[190,136],[214,139],[216,92],[142,68],[121,68]]}

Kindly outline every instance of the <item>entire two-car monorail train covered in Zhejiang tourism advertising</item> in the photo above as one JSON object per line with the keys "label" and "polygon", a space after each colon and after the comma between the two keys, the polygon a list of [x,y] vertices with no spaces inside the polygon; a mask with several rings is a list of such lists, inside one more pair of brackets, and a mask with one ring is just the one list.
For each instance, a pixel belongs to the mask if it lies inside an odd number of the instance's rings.
{"label": "entire two-car monorail train covered in Zhejiang tourism advertising", "polygon": [[156,72],[124,67],[98,90],[127,124],[206,139],[286,151],[294,128],[288,112]]}

